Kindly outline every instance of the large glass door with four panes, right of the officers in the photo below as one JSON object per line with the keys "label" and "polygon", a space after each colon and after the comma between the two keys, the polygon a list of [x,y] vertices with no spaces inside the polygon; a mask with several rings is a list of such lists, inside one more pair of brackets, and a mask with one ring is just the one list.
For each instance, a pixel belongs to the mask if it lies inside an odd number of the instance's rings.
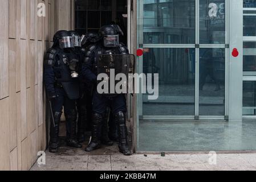
{"label": "large glass door with four panes, right of the officers", "polygon": [[138,1],[140,73],[159,74],[159,98],[140,94],[140,119],[225,119],[228,0]]}

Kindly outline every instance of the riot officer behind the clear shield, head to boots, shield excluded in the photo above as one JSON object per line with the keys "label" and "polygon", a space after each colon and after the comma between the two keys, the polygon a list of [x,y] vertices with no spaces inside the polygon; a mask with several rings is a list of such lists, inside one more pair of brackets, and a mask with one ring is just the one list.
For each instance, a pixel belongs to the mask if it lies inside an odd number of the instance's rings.
{"label": "riot officer behind the clear shield, head to boots, shield excluded", "polygon": [[[115,122],[119,128],[119,151],[124,155],[131,155],[127,141],[127,126],[125,125],[125,113],[127,111],[124,94],[104,95],[97,93],[97,62],[100,55],[127,55],[129,51],[124,44],[119,43],[119,34],[122,34],[120,27],[108,25],[100,28],[101,41],[89,46],[86,50],[86,58],[82,65],[82,75],[88,81],[94,83],[94,94],[92,98],[92,138],[86,148],[87,152],[100,147],[103,133],[101,133],[104,123],[104,114],[108,105],[111,106]],[[108,135],[108,134],[107,134]]]}

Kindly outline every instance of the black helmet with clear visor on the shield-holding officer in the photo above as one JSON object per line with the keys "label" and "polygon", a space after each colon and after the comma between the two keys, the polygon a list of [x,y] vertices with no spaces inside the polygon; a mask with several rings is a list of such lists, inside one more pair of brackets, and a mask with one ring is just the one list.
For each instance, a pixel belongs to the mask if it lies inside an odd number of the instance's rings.
{"label": "black helmet with clear visor on the shield-holding officer", "polygon": [[123,35],[123,31],[116,24],[110,24],[100,28],[99,34],[104,40],[104,47],[118,47],[119,34]]}

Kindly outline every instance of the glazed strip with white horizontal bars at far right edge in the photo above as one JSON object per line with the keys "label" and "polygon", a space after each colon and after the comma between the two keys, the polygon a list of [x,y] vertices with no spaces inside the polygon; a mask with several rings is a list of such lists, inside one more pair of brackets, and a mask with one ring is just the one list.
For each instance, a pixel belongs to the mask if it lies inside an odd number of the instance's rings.
{"label": "glazed strip with white horizontal bars at far right edge", "polygon": [[256,118],[256,0],[243,0],[243,117]]}

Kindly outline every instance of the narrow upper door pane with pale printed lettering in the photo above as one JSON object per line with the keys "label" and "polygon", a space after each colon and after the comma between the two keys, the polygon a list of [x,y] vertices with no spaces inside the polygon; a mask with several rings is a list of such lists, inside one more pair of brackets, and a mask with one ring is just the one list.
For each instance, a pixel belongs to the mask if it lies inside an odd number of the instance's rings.
{"label": "narrow upper door pane with pale printed lettering", "polygon": [[200,44],[225,44],[225,0],[200,0]]}

